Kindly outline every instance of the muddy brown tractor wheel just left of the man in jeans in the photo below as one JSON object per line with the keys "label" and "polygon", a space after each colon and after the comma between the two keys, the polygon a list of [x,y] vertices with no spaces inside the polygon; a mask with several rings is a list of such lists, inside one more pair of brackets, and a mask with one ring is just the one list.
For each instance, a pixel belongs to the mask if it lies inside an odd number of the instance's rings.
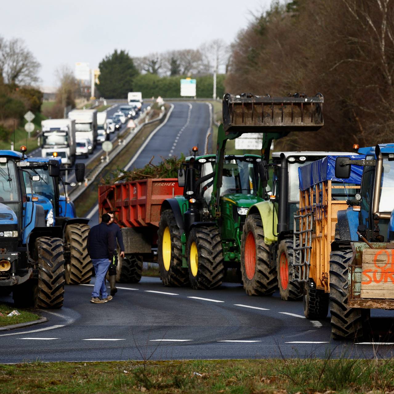
{"label": "muddy brown tractor wheel just left of the man in jeans", "polygon": [[87,224],[74,223],[66,227],[65,242],[69,248],[69,260],[66,261],[66,283],[89,283],[92,277],[92,262],[87,254]]}

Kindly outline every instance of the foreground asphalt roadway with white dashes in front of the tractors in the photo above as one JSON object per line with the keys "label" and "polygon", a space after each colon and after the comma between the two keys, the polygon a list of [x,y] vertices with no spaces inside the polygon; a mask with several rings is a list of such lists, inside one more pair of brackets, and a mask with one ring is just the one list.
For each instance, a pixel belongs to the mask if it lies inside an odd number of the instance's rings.
{"label": "foreground asphalt roadway with white dashes in front of the tractors", "polygon": [[392,311],[372,313],[374,341],[386,344],[339,342],[330,339],[329,318],[309,321],[301,302],[279,294],[250,297],[230,283],[167,288],[146,277],[119,286],[106,304],[89,303],[91,285],[66,286],[63,309],[42,311],[48,322],[0,332],[0,362],[393,357]]}

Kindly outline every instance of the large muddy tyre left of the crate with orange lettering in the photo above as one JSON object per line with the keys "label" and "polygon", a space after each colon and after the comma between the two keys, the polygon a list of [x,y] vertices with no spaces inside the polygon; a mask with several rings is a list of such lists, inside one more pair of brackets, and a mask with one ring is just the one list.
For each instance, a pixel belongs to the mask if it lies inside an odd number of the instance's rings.
{"label": "large muddy tyre left of the crate with orange lettering", "polygon": [[348,308],[348,262],[351,249],[330,253],[330,312],[333,338],[361,338],[369,309]]}

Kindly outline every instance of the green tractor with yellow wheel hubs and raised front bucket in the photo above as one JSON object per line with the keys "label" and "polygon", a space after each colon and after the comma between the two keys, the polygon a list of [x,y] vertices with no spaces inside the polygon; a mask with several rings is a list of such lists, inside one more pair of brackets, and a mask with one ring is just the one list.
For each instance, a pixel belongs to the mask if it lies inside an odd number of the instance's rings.
{"label": "green tractor with yellow wheel hubs and raised front bucket", "polygon": [[[212,289],[221,284],[226,268],[241,268],[249,208],[257,206],[258,212],[277,217],[267,193],[271,143],[290,131],[318,130],[323,125],[322,103],[320,94],[225,95],[216,155],[197,156],[193,148],[194,156],[178,171],[183,195],[165,200],[161,207],[158,263],[164,285]],[[264,132],[261,156],[225,154],[227,140],[256,132]],[[256,236],[266,244],[275,241],[276,224],[270,220],[264,233],[261,221],[255,223]]]}

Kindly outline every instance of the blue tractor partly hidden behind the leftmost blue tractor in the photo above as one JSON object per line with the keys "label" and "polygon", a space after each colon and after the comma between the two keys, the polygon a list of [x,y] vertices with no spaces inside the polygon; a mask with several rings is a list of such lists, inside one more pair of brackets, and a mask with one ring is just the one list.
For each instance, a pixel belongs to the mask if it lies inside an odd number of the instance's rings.
{"label": "blue tractor partly hidden behind the leftmost blue tractor", "polygon": [[[66,197],[64,182],[60,173],[70,171],[70,168],[60,168],[56,176],[50,176],[47,164],[48,158],[27,158],[26,162],[41,162],[41,168],[28,169],[30,175],[39,175],[40,180],[32,184],[33,189],[27,187],[28,195],[36,199],[37,204],[44,208],[45,224],[47,227],[59,226],[62,230],[62,239],[65,257],[65,280],[66,284],[89,283],[92,275],[92,264],[87,253],[86,243],[89,234],[89,219],[77,217],[74,203]],[[59,158],[56,162],[61,167]],[[77,182],[84,180],[85,165],[75,165]],[[73,185],[72,185],[73,186]],[[63,188],[64,195],[60,195]]]}

